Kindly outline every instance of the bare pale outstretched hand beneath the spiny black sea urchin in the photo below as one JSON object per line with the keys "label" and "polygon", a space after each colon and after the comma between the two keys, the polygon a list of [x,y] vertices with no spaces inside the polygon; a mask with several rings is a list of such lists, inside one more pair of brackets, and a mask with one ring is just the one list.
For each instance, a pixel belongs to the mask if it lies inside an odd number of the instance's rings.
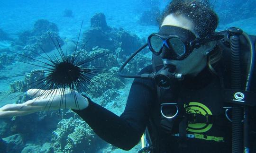
{"label": "bare pale outstretched hand beneath the spiny black sea urchin", "polygon": [[88,100],[77,91],[29,89],[27,94],[33,99],[24,103],[7,104],[1,107],[0,118],[23,116],[43,110],[83,110],[88,106]]}

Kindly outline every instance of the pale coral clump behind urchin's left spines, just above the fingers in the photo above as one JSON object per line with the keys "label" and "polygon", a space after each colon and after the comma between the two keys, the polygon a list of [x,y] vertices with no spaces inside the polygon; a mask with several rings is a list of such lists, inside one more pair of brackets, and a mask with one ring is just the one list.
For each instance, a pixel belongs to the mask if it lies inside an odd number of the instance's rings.
{"label": "pale coral clump behind urchin's left spines, just above the fingers", "polygon": [[43,69],[35,69],[25,75],[24,81],[16,80],[10,84],[11,93],[26,92],[31,88],[42,88],[44,82],[41,80],[45,77]]}

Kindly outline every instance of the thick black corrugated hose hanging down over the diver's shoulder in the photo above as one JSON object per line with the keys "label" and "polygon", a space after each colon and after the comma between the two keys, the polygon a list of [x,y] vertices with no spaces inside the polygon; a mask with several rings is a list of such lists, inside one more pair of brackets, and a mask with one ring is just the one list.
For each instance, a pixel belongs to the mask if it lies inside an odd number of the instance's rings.
{"label": "thick black corrugated hose hanging down over the diver's shoulder", "polygon": [[[238,28],[229,28],[229,39],[231,48],[231,88],[232,90],[243,90],[241,79],[241,60],[239,35],[243,33]],[[243,108],[239,104],[232,107],[232,153],[243,152]]]}

